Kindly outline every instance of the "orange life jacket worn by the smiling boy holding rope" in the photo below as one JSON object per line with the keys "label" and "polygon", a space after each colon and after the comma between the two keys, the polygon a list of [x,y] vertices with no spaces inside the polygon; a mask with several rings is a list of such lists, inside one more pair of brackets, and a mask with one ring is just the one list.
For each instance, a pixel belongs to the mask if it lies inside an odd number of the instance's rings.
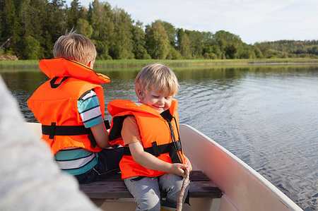
{"label": "orange life jacket worn by the smiling boy holding rope", "polygon": [[[158,111],[146,104],[136,104],[130,100],[113,100],[108,104],[108,111],[113,116],[110,126],[111,143],[124,145],[121,137],[122,123],[126,116],[134,115],[139,126],[141,143],[146,152],[165,162],[184,163],[179,141],[177,100],[172,100],[170,108],[163,112],[165,115],[163,113],[160,115]],[[124,156],[119,167],[122,171],[122,179],[166,174],[163,171],[147,169],[135,162],[128,146],[124,148]]]}

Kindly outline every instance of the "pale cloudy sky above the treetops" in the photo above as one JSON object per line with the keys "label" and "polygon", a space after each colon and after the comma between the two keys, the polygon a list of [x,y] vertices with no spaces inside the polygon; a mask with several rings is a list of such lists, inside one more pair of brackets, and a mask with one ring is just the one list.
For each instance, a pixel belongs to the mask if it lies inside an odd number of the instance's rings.
{"label": "pale cloudy sky above the treetops", "polygon": [[[104,0],[99,0],[104,2]],[[70,5],[71,0],[66,0]],[[93,0],[79,0],[88,8]],[[143,25],[163,20],[175,28],[225,30],[243,42],[318,40],[317,0],[108,0]]]}

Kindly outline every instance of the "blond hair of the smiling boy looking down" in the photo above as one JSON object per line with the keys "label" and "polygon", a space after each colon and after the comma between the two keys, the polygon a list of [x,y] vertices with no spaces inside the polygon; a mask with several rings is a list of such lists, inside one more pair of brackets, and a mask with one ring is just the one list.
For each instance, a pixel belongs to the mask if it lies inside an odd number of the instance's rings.
{"label": "blond hair of the smiling boy looking down", "polygon": [[178,92],[178,80],[170,68],[163,64],[151,64],[145,66],[135,80],[135,92],[150,92],[156,90],[159,93],[175,96]]}

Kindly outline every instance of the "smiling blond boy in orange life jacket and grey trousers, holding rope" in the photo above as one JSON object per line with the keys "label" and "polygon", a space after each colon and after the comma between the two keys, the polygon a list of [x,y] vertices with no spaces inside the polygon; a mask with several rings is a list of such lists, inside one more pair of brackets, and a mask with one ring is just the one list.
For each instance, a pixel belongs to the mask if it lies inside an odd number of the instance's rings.
{"label": "smiling blond boy in orange life jacket and grey trousers, holding rope", "polygon": [[[175,210],[184,169],[192,170],[179,142],[177,100],[173,99],[178,86],[170,68],[152,64],[136,77],[139,103],[113,100],[108,104],[113,116],[110,141],[125,146],[119,167],[138,204],[136,210],[160,210],[160,206]],[[160,201],[161,191],[167,197]]]}

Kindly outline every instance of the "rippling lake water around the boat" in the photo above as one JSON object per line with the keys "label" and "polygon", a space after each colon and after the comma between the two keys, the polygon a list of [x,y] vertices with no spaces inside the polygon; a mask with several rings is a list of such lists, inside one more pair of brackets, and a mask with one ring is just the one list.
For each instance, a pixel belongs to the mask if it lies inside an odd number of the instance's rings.
{"label": "rippling lake water around the boat", "polygon": [[[179,121],[249,164],[303,210],[317,210],[318,65],[173,68],[180,84]],[[106,104],[135,100],[140,68],[106,71]],[[1,70],[28,121],[26,100],[47,77]],[[106,115],[107,119],[111,116]]]}

